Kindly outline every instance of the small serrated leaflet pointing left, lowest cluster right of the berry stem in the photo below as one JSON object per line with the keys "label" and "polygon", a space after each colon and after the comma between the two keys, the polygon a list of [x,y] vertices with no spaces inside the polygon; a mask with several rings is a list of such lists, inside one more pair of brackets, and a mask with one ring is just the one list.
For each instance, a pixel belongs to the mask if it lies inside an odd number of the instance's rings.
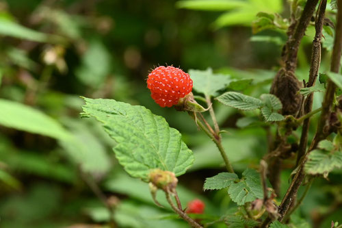
{"label": "small serrated leaflet pointing left, lowest cluster right of the berry stem", "polygon": [[230,186],[236,179],[239,179],[239,177],[235,173],[219,173],[218,175],[205,179],[203,189],[220,190]]}

